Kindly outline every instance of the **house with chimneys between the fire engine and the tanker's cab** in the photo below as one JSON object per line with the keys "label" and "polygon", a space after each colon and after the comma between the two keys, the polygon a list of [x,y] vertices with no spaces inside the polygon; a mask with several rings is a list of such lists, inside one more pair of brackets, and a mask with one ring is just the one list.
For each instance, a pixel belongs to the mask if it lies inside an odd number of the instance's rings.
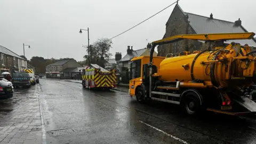
{"label": "house with chimneys between the fire engine and the tanker's cab", "polygon": [[[127,54],[121,60],[117,61],[118,70],[122,71],[123,68],[129,68],[130,67],[130,61],[134,57],[149,55],[151,47],[152,47],[152,45],[149,44],[149,43],[148,43],[147,47],[145,47],[144,49],[140,49],[140,50],[133,50],[132,46],[131,46],[131,48],[130,48],[130,46],[127,46]],[[153,56],[156,56],[156,55],[157,55],[157,53],[154,52]]]}

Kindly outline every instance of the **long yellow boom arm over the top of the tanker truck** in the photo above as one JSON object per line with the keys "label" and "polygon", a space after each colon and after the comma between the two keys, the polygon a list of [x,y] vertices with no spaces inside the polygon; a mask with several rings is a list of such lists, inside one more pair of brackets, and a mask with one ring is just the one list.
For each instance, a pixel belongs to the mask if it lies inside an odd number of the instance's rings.
{"label": "long yellow boom arm over the top of the tanker truck", "polygon": [[251,39],[254,33],[225,33],[225,34],[195,34],[195,35],[177,35],[167,37],[155,42],[152,42],[153,47],[156,45],[168,44],[180,41],[181,39],[194,39],[202,41],[221,41],[231,39]]}

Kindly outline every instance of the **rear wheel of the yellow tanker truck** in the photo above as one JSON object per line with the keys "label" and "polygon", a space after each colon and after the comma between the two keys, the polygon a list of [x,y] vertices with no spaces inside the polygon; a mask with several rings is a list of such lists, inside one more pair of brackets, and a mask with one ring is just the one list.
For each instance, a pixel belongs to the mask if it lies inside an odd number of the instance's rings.
{"label": "rear wheel of the yellow tanker truck", "polygon": [[182,108],[186,111],[189,115],[194,115],[198,113],[201,109],[201,100],[200,96],[195,92],[187,92],[186,95],[183,96],[182,99]]}

